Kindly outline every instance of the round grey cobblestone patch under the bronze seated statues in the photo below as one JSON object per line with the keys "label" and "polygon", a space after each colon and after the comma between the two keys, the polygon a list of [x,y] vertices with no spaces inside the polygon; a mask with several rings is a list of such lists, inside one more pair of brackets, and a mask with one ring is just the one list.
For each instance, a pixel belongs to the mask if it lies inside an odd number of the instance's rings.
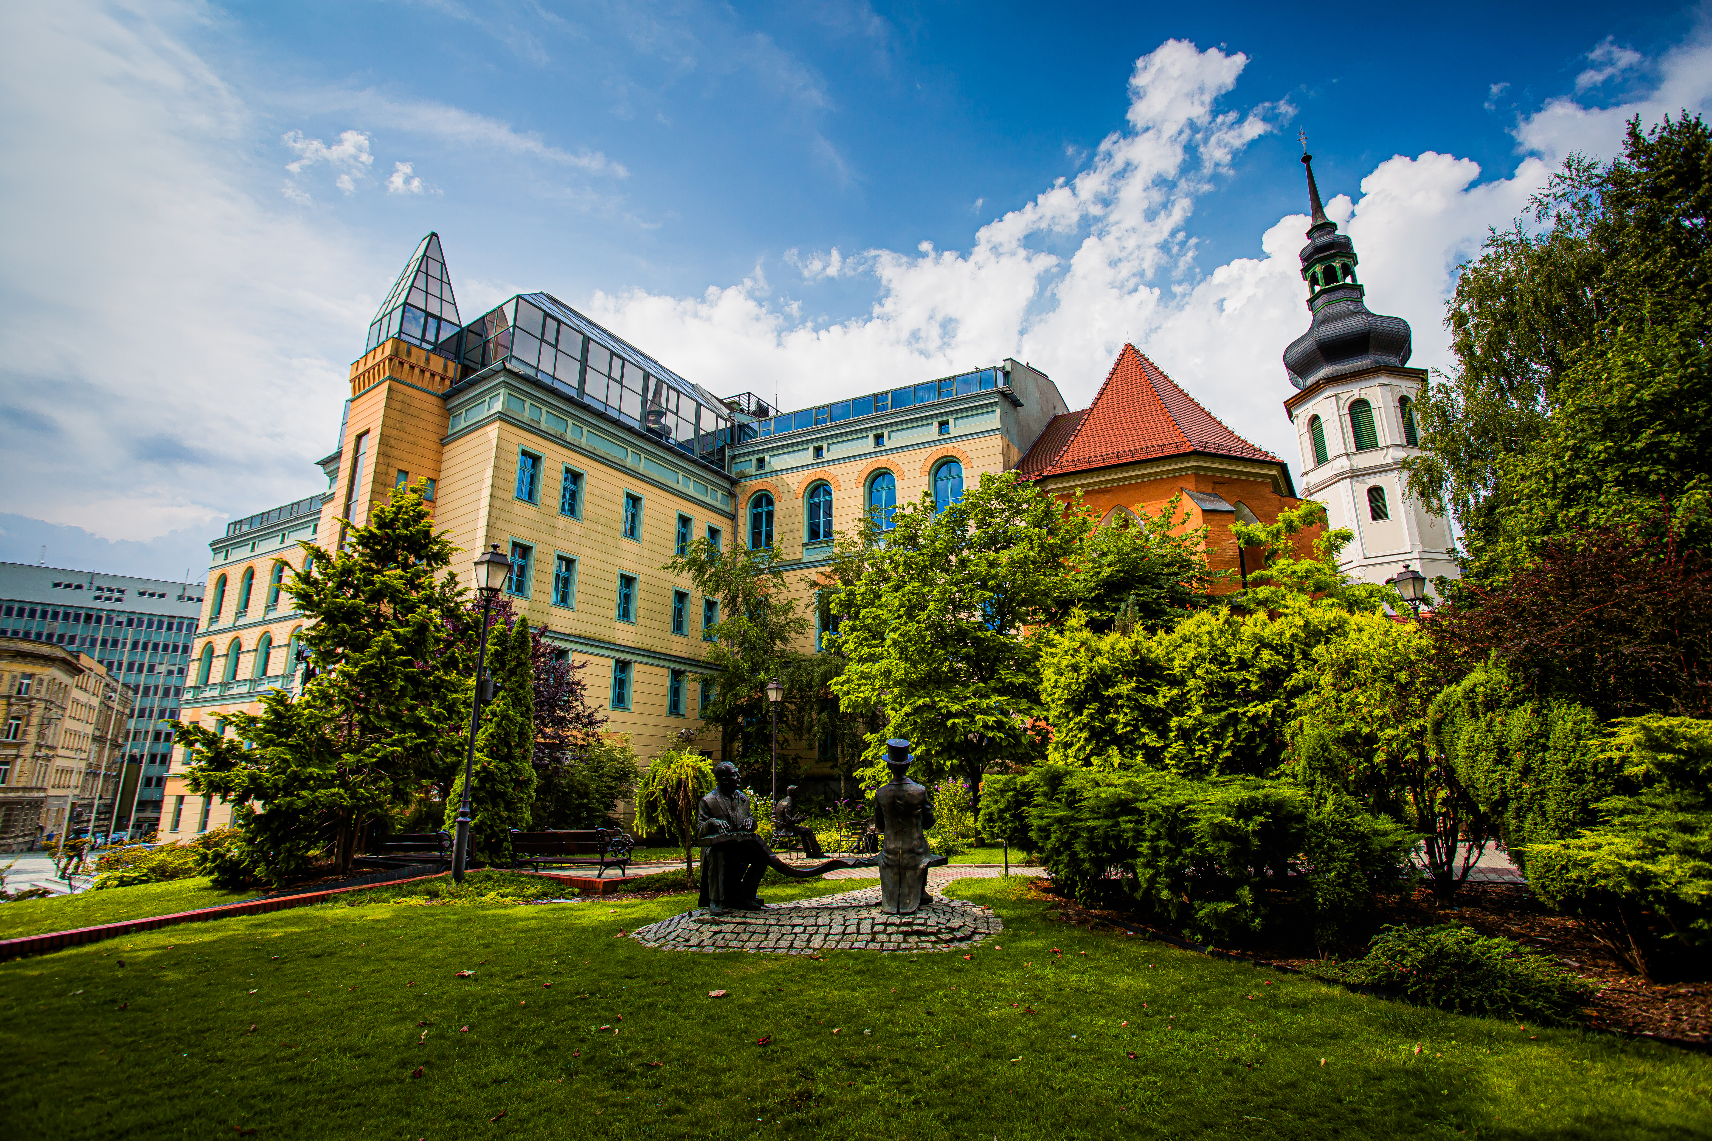
{"label": "round grey cobblestone patch under the bronze seated statues", "polygon": [[1003,924],[993,908],[947,900],[931,888],[928,903],[914,915],[887,915],[880,910],[880,888],[875,886],[818,900],[769,903],[765,910],[736,915],[709,915],[698,907],[639,927],[630,937],[668,951],[923,953],[960,951],[1000,931]]}

